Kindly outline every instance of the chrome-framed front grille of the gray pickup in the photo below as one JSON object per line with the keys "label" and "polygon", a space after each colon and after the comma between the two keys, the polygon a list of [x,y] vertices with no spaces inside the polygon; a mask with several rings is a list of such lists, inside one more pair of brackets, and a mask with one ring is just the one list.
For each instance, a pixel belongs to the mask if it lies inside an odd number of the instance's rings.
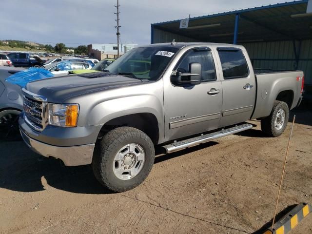
{"label": "chrome-framed front grille of the gray pickup", "polygon": [[43,129],[43,104],[41,101],[33,100],[24,96],[23,109],[26,121],[37,130]]}

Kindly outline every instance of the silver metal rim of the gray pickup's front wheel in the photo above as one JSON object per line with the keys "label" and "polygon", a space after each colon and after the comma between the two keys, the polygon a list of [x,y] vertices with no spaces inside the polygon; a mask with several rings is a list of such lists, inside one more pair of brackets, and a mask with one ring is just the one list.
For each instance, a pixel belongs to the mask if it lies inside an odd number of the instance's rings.
{"label": "silver metal rim of the gray pickup's front wheel", "polygon": [[118,150],[113,161],[113,172],[118,179],[132,179],[140,173],[144,162],[143,148],[137,144],[127,144]]}

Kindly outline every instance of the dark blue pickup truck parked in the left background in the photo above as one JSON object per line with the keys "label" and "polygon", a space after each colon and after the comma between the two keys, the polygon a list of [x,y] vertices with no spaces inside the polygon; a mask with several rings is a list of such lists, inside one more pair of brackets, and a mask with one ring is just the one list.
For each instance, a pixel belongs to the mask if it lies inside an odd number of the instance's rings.
{"label": "dark blue pickup truck parked in the left background", "polygon": [[32,67],[41,65],[42,60],[39,57],[30,58],[28,53],[8,53],[7,56],[15,67]]}

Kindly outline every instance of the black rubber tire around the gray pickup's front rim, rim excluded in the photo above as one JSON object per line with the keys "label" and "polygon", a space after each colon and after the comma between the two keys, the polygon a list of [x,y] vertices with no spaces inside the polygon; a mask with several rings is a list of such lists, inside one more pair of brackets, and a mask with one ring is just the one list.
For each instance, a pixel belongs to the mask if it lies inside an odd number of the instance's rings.
{"label": "black rubber tire around the gray pickup's front rim, rim excluded", "polygon": [[[114,158],[127,144],[137,144],[145,154],[145,161],[139,173],[127,180],[118,178],[113,171]],[[137,187],[152,170],[155,148],[152,140],[142,131],[132,127],[118,127],[111,130],[96,143],[92,160],[94,175],[109,190],[124,192]],[[122,164],[121,164],[122,165]]]}

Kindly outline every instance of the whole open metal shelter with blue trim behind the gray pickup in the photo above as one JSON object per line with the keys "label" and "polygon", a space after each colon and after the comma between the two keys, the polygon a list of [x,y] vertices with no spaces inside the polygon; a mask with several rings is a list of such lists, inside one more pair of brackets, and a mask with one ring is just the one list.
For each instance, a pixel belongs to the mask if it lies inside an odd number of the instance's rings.
{"label": "whole open metal shelter with blue trim behind the gray pickup", "polygon": [[151,43],[173,39],[244,45],[254,68],[303,70],[312,86],[312,0],[151,25]]}

